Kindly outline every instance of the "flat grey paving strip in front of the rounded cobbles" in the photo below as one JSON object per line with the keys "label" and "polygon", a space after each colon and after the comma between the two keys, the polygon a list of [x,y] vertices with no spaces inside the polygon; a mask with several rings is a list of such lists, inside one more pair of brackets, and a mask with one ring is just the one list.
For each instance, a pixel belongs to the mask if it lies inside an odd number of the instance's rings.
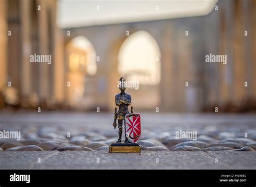
{"label": "flat grey paving strip in front of the rounded cobbles", "polygon": [[53,150],[0,154],[1,169],[255,169],[255,161],[253,152],[230,151],[144,150],[141,154],[109,154],[106,150]]}

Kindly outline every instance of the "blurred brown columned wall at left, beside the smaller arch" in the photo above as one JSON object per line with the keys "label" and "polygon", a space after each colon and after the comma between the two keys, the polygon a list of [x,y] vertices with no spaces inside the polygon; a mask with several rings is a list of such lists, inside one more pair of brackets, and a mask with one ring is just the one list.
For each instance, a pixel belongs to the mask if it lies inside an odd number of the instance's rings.
{"label": "blurred brown columned wall at left, beside the smaller arch", "polygon": [[[63,102],[62,94],[56,90],[63,87],[61,45],[57,46],[57,42],[61,44],[62,33],[56,27],[56,1],[1,0],[0,3],[2,100],[10,104],[8,95],[17,93],[18,105],[22,107]],[[31,63],[30,55],[34,54],[51,55],[52,63]]]}

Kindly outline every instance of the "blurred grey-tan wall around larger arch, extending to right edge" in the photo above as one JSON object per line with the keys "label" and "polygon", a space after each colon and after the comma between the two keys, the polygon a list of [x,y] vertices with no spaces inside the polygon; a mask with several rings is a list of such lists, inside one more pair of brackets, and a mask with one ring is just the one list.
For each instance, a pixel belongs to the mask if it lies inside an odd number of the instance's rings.
{"label": "blurred grey-tan wall around larger arch, extending to right edge", "polygon": [[[65,35],[65,42],[84,35],[100,57],[97,79],[103,80],[104,90],[96,85],[100,98],[96,105],[113,109],[119,91],[116,81],[121,76],[117,56],[126,31],[131,35],[145,30],[156,39],[161,52],[161,81],[151,88],[158,90],[160,102],[149,107],[147,100],[156,99],[150,89],[132,90],[135,109],[195,112],[218,107],[219,111],[243,111],[247,109],[240,108],[255,103],[256,98],[255,6],[253,0],[219,1],[207,16],[66,28],[63,33],[71,33]],[[227,55],[227,64],[206,63],[205,56],[210,53]],[[137,97],[140,92],[143,97]]]}

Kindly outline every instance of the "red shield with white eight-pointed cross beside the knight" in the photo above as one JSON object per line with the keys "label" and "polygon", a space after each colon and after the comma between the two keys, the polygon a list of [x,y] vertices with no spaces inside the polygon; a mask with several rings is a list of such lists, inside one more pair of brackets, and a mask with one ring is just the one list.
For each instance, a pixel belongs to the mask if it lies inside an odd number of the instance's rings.
{"label": "red shield with white eight-pointed cross beside the knight", "polygon": [[135,143],[140,134],[142,134],[140,128],[140,114],[131,113],[125,116],[125,135],[132,142]]}

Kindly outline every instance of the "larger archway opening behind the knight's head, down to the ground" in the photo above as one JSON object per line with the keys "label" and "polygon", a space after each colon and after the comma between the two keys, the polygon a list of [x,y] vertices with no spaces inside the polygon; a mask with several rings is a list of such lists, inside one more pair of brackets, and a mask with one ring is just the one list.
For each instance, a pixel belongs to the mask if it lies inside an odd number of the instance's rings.
{"label": "larger archway opening behind the knight's head, down to the ground", "polygon": [[137,109],[154,109],[160,102],[160,49],[149,32],[131,34],[120,47],[118,73],[127,81],[138,82],[138,87],[128,88],[133,106]]}

